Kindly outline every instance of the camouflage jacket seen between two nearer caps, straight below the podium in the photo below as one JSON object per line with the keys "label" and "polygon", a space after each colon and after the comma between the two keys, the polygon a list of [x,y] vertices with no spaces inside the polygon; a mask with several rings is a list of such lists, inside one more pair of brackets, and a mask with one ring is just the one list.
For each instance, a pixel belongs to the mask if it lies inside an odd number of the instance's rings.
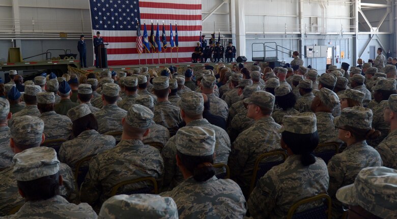
{"label": "camouflage jacket seen between two nearer caps, straight below the podium", "polygon": [[98,132],[105,134],[108,132],[123,131],[121,120],[127,115],[127,111],[118,107],[116,104],[103,106],[94,114],[98,121]]}

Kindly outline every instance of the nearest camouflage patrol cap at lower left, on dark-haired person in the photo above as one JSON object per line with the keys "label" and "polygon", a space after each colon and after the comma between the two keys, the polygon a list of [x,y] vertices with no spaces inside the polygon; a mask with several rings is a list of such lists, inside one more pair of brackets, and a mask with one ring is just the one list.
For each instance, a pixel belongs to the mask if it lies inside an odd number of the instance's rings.
{"label": "nearest camouflage patrol cap at lower left, on dark-haired person", "polygon": [[26,149],[15,154],[12,163],[12,173],[17,181],[32,181],[54,175],[59,172],[61,164],[56,157],[56,151],[50,147]]}

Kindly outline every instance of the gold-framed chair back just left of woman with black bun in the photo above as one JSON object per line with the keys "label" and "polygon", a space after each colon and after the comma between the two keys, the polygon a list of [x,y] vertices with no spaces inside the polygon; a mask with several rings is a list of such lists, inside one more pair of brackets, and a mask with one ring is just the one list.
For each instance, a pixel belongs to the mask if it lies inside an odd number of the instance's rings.
{"label": "gold-framed chair back just left of woman with black bun", "polygon": [[[262,162],[262,160],[270,159],[270,158],[273,158],[274,160],[277,160],[277,161]],[[279,158],[279,159],[277,159],[277,158]],[[270,152],[263,153],[263,154],[259,155],[259,157],[257,158],[257,160],[255,162],[255,166],[253,167],[249,194],[251,194],[253,188],[257,185],[258,180],[262,176],[264,176],[267,173],[267,171],[269,171],[274,166],[284,163],[284,161],[286,159],[287,159],[287,153],[285,150],[282,150],[282,149],[270,151]]]}

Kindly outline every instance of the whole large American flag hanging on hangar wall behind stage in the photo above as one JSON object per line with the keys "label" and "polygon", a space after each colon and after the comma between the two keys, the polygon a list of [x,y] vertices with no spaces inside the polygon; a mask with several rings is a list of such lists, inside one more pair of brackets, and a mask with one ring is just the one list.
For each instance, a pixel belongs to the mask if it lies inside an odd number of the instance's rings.
{"label": "whole large American flag hanging on hangar wall behind stage", "polygon": [[[104,42],[109,43],[109,66],[176,63],[177,51],[179,62],[190,62],[202,30],[201,8],[201,0],[90,0],[93,36],[99,31]],[[144,50],[139,61],[137,30],[143,30],[144,22],[150,29],[152,21],[155,25],[157,21],[171,23],[174,29],[175,23],[178,24],[179,49],[172,50],[172,60],[171,49],[168,48],[160,54],[145,54]],[[170,26],[165,25],[168,43],[169,29]]]}

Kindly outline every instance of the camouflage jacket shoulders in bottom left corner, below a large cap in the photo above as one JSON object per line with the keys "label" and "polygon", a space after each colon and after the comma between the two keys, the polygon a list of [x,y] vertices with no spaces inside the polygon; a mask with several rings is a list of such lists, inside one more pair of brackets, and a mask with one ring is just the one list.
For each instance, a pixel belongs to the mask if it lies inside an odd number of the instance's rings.
{"label": "camouflage jacket shoulders in bottom left corner, below a large cap", "polygon": [[79,205],[71,204],[62,196],[54,196],[47,200],[26,202],[18,212],[4,218],[92,218],[98,216],[90,205],[81,203]]}

